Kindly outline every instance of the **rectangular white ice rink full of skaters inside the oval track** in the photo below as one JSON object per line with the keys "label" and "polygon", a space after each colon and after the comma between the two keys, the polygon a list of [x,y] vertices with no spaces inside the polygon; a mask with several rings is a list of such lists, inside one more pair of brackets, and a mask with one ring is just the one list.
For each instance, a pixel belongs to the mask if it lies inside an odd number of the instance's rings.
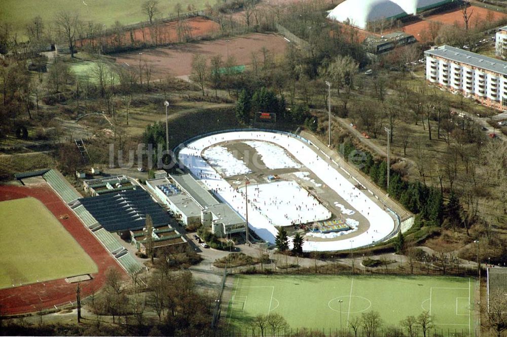
{"label": "rectangular white ice rink full of skaters inside the oval track", "polygon": [[[244,188],[240,190],[244,192]],[[294,181],[248,185],[248,199],[252,207],[274,226],[327,220],[332,215]]]}

